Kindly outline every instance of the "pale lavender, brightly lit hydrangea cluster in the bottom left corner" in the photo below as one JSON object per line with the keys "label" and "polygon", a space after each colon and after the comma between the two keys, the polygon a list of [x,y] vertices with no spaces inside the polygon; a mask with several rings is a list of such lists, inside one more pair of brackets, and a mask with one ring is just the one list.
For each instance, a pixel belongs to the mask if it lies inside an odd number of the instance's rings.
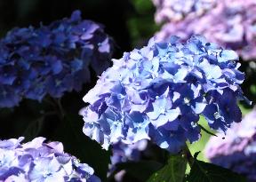
{"label": "pale lavender, brightly lit hydrangea cluster in the bottom left corner", "polygon": [[23,139],[0,140],[0,181],[100,182],[89,165],[64,153],[60,142],[34,138],[21,144]]}

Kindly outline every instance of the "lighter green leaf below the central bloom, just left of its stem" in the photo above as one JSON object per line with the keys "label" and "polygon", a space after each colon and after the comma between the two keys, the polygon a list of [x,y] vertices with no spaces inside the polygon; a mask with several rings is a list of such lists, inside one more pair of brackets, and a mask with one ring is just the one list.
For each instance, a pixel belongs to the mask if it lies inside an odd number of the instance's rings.
{"label": "lighter green leaf below the central bloom, just left of its stem", "polygon": [[188,161],[181,155],[172,155],[168,163],[153,174],[148,182],[182,182]]}

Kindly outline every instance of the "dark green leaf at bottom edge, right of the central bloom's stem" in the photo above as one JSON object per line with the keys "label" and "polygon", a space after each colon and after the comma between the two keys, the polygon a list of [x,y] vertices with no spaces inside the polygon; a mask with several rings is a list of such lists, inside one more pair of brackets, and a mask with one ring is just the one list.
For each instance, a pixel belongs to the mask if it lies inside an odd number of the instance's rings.
{"label": "dark green leaf at bottom edge, right of the central bloom's stem", "polygon": [[201,162],[195,159],[188,182],[246,182],[246,179],[231,170],[221,168],[212,163]]}

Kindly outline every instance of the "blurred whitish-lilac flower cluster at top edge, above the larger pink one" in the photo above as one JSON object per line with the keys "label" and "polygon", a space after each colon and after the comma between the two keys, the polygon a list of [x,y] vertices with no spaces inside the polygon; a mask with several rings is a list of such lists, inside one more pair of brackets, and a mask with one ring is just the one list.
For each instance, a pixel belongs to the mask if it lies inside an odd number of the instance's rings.
{"label": "blurred whitish-lilac flower cluster at top edge, above the larger pink one", "polygon": [[196,18],[212,9],[217,0],[152,0],[156,5],[156,22]]}

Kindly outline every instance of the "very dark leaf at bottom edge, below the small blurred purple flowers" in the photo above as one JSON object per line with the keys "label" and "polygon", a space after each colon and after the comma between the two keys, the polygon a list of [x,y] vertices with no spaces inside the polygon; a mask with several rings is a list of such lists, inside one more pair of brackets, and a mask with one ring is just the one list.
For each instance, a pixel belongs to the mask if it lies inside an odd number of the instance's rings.
{"label": "very dark leaf at bottom edge, below the small blurred purple flowers", "polygon": [[161,167],[163,167],[163,164],[155,161],[121,162],[116,164],[116,170],[112,176],[120,170],[125,170],[125,172],[129,176],[132,176],[132,178],[136,178],[139,181],[144,182],[152,173],[161,169]]}

